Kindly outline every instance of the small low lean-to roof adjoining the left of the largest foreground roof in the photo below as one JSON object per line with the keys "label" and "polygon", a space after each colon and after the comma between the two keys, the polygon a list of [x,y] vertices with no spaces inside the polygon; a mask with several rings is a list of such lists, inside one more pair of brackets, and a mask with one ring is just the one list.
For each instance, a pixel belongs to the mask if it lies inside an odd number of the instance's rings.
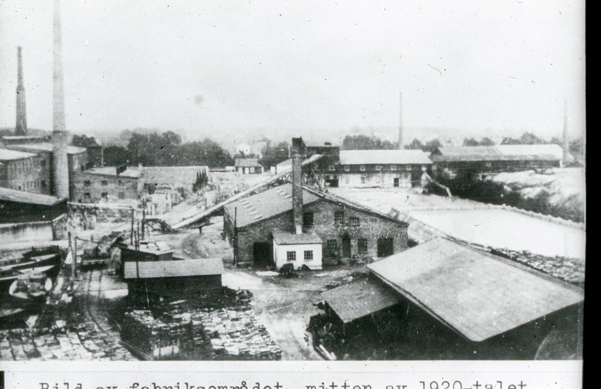
{"label": "small low lean-to roof adjoining the left of the largest foreground roof", "polygon": [[327,290],[322,297],[345,323],[400,302],[394,290],[370,278]]}

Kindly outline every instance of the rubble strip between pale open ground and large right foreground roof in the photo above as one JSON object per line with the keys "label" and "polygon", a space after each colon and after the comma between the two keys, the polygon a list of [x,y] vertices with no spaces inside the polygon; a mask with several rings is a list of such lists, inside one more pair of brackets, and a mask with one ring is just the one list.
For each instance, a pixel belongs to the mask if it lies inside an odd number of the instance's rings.
{"label": "rubble strip between pale open ground and large right foreground roof", "polygon": [[584,286],[584,260],[568,257],[545,257],[529,251],[493,248],[490,253],[505,257],[572,284]]}

